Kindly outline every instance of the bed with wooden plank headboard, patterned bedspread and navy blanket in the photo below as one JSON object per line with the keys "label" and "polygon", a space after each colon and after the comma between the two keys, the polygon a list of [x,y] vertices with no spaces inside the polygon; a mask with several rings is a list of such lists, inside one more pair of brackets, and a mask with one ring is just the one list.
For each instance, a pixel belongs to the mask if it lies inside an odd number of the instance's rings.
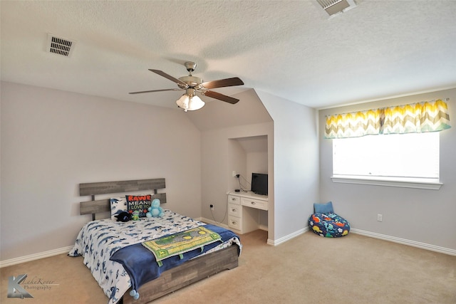
{"label": "bed with wooden plank headboard, patterned bedspread and navy blanket", "polygon": [[[108,303],[148,303],[219,271],[238,266],[242,245],[237,235],[166,209],[166,193],[158,193],[160,189],[165,189],[165,179],[79,185],[80,196],[91,196],[90,201],[80,203],[80,213],[92,214],[92,221],[83,226],[68,255],[83,256],[84,264],[103,288]],[[163,216],[141,217],[138,221],[128,222],[95,219],[95,214],[112,214],[113,206],[111,199],[95,200],[95,195],[125,196],[129,192],[150,193],[151,199],[160,199]],[[162,261],[150,252],[145,253],[145,242],[195,229],[211,231],[219,239]]]}

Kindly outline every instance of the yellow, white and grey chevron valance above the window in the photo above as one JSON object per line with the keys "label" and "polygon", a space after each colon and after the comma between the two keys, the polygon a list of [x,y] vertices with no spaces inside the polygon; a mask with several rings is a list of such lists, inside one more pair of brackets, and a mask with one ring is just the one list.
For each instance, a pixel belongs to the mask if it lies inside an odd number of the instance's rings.
{"label": "yellow, white and grey chevron valance above the window", "polygon": [[439,99],[390,108],[328,115],[325,138],[436,132],[449,128],[450,115],[447,104]]}

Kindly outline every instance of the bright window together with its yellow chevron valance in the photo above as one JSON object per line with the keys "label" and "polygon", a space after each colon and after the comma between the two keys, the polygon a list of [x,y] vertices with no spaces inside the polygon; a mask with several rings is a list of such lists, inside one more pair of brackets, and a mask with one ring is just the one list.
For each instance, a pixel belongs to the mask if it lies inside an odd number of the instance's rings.
{"label": "bright window together with its yellow chevron valance", "polygon": [[441,99],[326,116],[333,182],[440,189],[440,136],[450,128]]}

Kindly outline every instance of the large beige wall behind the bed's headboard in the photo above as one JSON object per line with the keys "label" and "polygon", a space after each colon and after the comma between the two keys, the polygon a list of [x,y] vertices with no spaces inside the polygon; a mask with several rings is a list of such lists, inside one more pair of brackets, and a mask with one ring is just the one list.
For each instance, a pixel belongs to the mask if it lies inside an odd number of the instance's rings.
{"label": "large beige wall behind the bed's headboard", "polygon": [[201,135],[180,110],[1,83],[1,261],[74,244],[78,184],[166,178],[199,217]]}

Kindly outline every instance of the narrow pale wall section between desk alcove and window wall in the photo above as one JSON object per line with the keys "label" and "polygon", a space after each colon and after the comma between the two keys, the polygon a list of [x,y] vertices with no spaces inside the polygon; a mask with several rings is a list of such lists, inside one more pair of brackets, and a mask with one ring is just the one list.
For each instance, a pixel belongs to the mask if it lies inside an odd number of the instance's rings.
{"label": "narrow pale wall section between desk alcove and window wall", "polygon": [[274,234],[271,239],[269,232],[269,239],[280,242],[309,226],[318,199],[316,110],[257,94],[274,120]]}

